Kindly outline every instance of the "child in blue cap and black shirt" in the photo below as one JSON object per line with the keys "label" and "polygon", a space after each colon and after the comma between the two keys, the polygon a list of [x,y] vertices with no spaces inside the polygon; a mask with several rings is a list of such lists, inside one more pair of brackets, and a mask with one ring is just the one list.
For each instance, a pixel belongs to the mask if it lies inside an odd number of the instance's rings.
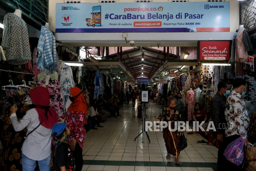
{"label": "child in blue cap and black shirt", "polygon": [[57,138],[53,171],[73,171],[73,157],[68,135],[70,130],[64,123],[57,123],[52,127],[53,136]]}

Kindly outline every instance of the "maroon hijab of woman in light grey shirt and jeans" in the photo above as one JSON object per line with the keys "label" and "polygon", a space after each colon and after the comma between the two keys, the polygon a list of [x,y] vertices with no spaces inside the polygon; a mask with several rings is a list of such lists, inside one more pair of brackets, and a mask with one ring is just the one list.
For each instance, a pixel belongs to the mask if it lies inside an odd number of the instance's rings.
{"label": "maroon hijab of woman in light grey shirt and jeans", "polygon": [[52,126],[58,122],[58,116],[56,111],[49,107],[50,94],[47,88],[36,87],[31,89],[30,98],[35,103],[35,109],[41,125],[47,129],[52,129]]}

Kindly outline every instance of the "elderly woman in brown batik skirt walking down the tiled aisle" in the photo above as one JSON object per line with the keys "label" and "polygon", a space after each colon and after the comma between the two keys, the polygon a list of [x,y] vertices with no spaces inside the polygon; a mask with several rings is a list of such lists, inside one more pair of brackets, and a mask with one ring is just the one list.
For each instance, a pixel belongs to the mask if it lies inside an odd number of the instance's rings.
{"label": "elderly woman in brown batik skirt walking down the tiled aisle", "polygon": [[[176,107],[176,100],[175,98],[170,98],[168,100],[169,107],[163,108],[161,114],[157,118],[157,121],[171,121],[166,128],[163,129],[163,138],[165,142],[165,146],[167,149],[167,159],[171,158],[171,155],[175,156],[175,164],[181,164],[179,161],[180,155],[180,133],[184,133],[184,131],[179,132],[178,129],[176,131],[170,131],[171,129],[175,128],[175,121],[181,121],[181,115],[179,109]],[[170,128],[169,128],[170,127]]]}

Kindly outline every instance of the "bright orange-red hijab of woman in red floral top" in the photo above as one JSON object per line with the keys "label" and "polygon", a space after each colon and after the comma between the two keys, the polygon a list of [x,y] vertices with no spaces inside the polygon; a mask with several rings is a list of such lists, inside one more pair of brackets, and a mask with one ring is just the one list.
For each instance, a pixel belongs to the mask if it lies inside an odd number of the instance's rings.
{"label": "bright orange-red hijab of woman in red floral top", "polygon": [[[77,96],[79,93],[81,93],[81,89],[78,87],[74,87],[69,89],[72,97]],[[81,111],[85,113],[85,117],[87,115],[87,104],[85,101],[85,97],[83,95],[83,93],[79,94],[77,97],[75,97],[75,100],[70,104],[70,106],[68,107],[68,111]]]}

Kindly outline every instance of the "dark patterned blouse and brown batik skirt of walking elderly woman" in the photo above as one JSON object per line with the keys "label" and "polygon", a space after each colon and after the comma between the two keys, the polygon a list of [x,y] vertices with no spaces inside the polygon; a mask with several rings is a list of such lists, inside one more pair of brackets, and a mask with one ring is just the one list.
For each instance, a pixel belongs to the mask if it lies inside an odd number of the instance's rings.
{"label": "dark patterned blouse and brown batik skirt of walking elderly woman", "polygon": [[[163,118],[163,121],[171,122],[168,127],[171,127],[171,129],[175,128],[175,121],[181,121],[181,114],[179,109],[174,109],[174,114],[170,113],[170,108],[166,107],[162,110],[159,117],[157,118],[157,121],[161,121]],[[169,129],[164,128],[163,129],[163,139],[165,142],[165,147],[168,153],[178,158],[180,155],[180,132],[178,131],[178,128],[175,132],[170,131]]]}

